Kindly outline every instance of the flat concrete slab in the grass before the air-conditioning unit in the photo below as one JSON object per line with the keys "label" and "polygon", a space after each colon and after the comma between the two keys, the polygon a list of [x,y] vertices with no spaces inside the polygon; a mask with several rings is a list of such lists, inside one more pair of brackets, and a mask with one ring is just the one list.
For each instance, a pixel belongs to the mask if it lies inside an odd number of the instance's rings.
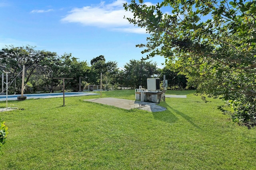
{"label": "flat concrete slab in the grass before the air-conditioning unit", "polygon": [[140,102],[134,100],[118,99],[118,98],[97,98],[97,99],[86,99],[86,102],[94,102],[100,104],[106,104],[110,106],[119,107],[122,109],[142,109],[146,111],[156,112],[164,111],[166,108],[156,105],[156,103]]}

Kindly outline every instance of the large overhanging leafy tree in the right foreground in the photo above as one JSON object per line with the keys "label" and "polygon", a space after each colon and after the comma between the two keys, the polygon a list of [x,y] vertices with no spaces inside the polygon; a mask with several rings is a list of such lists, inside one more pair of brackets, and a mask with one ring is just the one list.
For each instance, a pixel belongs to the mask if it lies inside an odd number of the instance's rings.
{"label": "large overhanging leafy tree in the right foreground", "polygon": [[256,125],[255,0],[132,0],[124,8],[150,34],[142,53],[166,57],[198,92],[228,101],[234,121]]}

